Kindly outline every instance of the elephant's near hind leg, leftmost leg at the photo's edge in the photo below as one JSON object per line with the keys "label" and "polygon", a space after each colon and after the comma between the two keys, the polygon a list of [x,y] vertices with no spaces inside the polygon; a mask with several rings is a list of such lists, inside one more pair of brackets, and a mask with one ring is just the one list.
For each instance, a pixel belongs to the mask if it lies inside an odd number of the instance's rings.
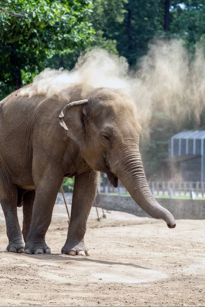
{"label": "elephant's near hind leg, leftmost leg at the photo's edge", "polygon": [[17,216],[17,187],[4,178],[0,178],[0,202],[5,215],[9,245],[7,251],[14,253],[24,252],[22,231]]}

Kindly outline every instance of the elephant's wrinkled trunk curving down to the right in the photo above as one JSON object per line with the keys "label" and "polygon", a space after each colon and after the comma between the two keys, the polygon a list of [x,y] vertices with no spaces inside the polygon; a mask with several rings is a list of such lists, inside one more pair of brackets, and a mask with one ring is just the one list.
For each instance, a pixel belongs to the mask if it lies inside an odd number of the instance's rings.
{"label": "elephant's wrinkled trunk curving down to the right", "polygon": [[162,218],[169,228],[174,228],[176,224],[173,215],[157,203],[150,191],[139,151],[129,157],[125,154],[125,157],[116,165],[115,173],[119,180],[139,207],[152,217]]}

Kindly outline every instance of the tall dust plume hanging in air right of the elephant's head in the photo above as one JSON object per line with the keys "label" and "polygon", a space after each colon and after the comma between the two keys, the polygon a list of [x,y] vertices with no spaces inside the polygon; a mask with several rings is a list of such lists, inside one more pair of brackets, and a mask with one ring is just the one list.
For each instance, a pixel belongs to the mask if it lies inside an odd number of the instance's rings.
{"label": "tall dust plume hanging in air right of the elephant's head", "polygon": [[150,125],[156,109],[165,112],[175,124],[193,114],[199,121],[205,104],[205,58],[200,46],[191,56],[182,41],[157,41],[150,45],[137,68],[132,97],[142,125]]}

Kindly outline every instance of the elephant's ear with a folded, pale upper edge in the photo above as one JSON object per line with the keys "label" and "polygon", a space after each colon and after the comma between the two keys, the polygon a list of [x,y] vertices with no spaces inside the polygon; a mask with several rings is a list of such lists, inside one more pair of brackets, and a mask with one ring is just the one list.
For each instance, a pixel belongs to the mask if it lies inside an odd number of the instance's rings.
{"label": "elephant's ear with a folded, pale upper edge", "polygon": [[[67,104],[59,115],[59,122],[66,130],[67,137],[71,138],[81,149],[85,139],[83,123],[83,108],[79,104],[87,103],[88,99],[73,101]],[[69,109],[69,111],[68,111]]]}

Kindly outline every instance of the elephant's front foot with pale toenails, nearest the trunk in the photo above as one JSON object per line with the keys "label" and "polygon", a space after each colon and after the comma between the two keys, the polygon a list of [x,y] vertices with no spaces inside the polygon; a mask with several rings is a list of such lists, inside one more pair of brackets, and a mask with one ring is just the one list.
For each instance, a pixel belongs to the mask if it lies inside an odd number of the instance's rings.
{"label": "elephant's front foot with pale toenails, nearest the trunk", "polygon": [[66,243],[64,247],[61,249],[62,254],[67,254],[67,255],[72,255],[72,256],[90,256],[90,252],[85,247],[84,242],[79,242],[79,243]]}

